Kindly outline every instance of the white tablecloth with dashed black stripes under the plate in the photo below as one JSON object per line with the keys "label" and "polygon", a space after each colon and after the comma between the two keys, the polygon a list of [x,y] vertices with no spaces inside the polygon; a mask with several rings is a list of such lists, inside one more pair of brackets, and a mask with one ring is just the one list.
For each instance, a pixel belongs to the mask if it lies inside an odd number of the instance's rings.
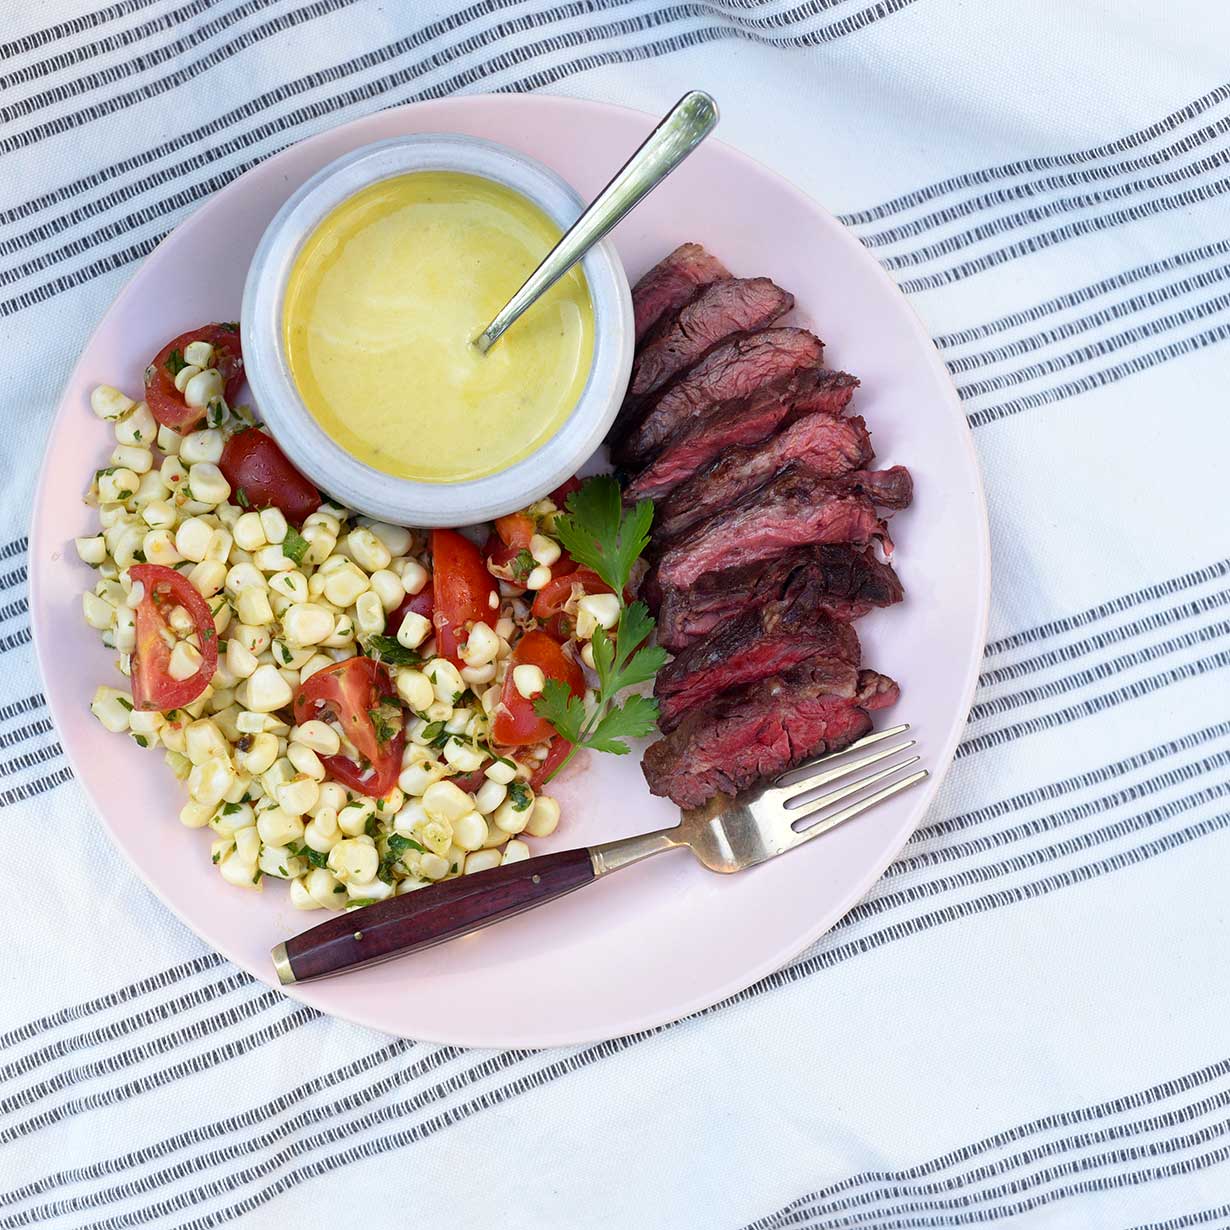
{"label": "white tablecloth with dashed black stripes under the plate", "polygon": [[[1230,1225],[1226,6],[97,2],[0,6],[0,1230]],[[317,1016],[184,931],[71,780],[26,613],[42,428],[134,263],[288,143],[697,85],[961,387],[995,560],[968,737],[867,899],[696,1018],[529,1054]]]}

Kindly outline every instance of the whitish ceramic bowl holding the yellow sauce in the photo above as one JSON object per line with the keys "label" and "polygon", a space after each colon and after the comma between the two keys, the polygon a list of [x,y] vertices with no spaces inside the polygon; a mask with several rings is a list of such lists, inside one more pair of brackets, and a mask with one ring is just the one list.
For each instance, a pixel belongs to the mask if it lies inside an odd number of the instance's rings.
{"label": "whitish ceramic bowl holding the yellow sauce", "polygon": [[322,491],[395,524],[467,525],[533,503],[598,450],[632,367],[632,299],[614,244],[606,240],[590,248],[582,261],[594,308],[589,379],[563,426],[524,460],[456,483],[415,482],[365,465],[323,432],[299,396],[283,346],[283,298],[299,248],[321,220],[355,192],[410,171],[462,171],[494,180],[533,200],[563,229],[582,210],[581,197],[541,162],[475,137],[423,133],[354,150],[308,180],[261,239],[244,287],[244,362],[261,418]]}

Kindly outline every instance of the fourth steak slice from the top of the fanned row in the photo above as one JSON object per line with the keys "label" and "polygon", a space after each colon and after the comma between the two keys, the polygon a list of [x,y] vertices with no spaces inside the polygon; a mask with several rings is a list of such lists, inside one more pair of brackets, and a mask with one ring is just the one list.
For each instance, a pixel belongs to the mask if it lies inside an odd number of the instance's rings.
{"label": "fourth steak slice from the top of the fanned row", "polygon": [[[749,397],[734,397],[720,402],[711,411],[699,415],[688,426],[675,432],[663,445],[662,451],[629,485],[627,498],[641,499],[646,496],[661,499],[674,488],[691,478],[700,469],[728,450],[737,455],[759,456],[761,450],[747,448],[759,444],[770,437],[781,423],[788,423],[809,411],[830,418],[839,415],[849,403],[859,381],[845,371],[829,371],[825,368],[804,368],[792,371],[788,376],[774,380],[758,389]],[[823,413],[822,413],[823,412]],[[838,422],[834,419],[834,422]],[[856,427],[835,427],[838,434],[857,434],[862,432],[866,442],[866,460],[871,460],[871,442],[866,439],[862,419],[851,419]],[[740,445],[743,445],[740,448]],[[764,471],[759,482],[772,476],[786,462],[779,462],[772,470]],[[860,465],[863,462],[860,461]],[[759,486],[759,482],[750,486]],[[743,491],[749,490],[748,486]],[[737,492],[736,494],[742,494]],[[729,503],[720,499],[718,504]],[[659,508],[658,515],[661,517]],[[702,517],[694,518],[701,520]]]}

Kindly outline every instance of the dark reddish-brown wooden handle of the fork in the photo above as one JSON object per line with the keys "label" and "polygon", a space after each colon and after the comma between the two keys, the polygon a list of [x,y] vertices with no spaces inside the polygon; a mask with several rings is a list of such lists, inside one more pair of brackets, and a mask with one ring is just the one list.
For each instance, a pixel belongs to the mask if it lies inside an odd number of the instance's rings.
{"label": "dark reddish-brown wooden handle of the fork", "polygon": [[524,859],[336,914],[279,943],[273,964],[283,983],[339,974],[476,931],[594,878],[589,850]]}

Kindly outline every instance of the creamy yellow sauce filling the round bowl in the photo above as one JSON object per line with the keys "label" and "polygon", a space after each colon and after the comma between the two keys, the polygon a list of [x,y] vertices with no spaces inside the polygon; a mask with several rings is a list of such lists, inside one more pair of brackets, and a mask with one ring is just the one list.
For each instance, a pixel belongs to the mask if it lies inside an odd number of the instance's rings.
{"label": "creamy yellow sauce filling the round bowl", "polygon": [[421,171],[365,188],[316,228],[287,284],[283,336],[308,410],[386,474],[460,482],[555,434],[594,348],[579,267],[486,354],[471,344],[560,239],[499,183]]}

